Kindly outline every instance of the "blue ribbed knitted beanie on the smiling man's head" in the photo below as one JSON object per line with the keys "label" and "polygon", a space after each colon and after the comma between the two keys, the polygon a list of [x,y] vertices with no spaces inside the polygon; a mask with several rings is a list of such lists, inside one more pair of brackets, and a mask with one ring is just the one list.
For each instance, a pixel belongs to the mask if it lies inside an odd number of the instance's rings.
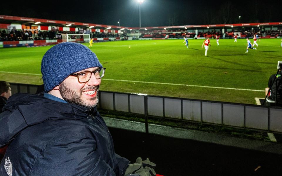
{"label": "blue ribbed knitted beanie on the smiling man's head", "polygon": [[45,92],[59,85],[71,73],[103,66],[88,47],[74,42],[63,42],[50,48],[42,58],[41,73]]}

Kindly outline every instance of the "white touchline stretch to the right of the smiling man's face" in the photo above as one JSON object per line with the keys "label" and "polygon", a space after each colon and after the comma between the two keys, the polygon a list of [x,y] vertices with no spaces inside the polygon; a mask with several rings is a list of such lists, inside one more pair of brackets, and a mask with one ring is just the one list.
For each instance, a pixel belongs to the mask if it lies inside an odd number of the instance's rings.
{"label": "white touchline stretch to the right of the smiling man's face", "polygon": [[254,92],[265,92],[264,90],[236,89],[236,88],[230,88],[230,87],[211,87],[211,86],[198,86],[198,85],[188,85],[188,84],[173,84],[173,83],[145,82],[145,81],[129,81],[129,80],[112,80],[112,79],[103,79],[103,80],[108,80],[108,81],[122,81],[122,82],[138,82],[138,83],[149,83],[149,84],[166,84],[166,85],[175,85],[175,86],[206,87],[206,88],[215,88],[215,89],[247,90],[247,91],[254,91]]}

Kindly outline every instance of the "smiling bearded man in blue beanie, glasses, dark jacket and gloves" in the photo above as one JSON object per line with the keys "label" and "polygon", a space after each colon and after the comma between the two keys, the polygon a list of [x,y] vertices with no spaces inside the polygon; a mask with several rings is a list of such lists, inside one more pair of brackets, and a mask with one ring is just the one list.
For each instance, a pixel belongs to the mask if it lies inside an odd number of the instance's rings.
{"label": "smiling bearded man in blue beanie, glasses, dark jacket and gloves", "polygon": [[115,153],[96,108],[105,68],[90,49],[55,45],[41,73],[45,92],[14,94],[0,114],[0,147],[9,144],[0,175],[156,175],[148,158],[130,164]]}

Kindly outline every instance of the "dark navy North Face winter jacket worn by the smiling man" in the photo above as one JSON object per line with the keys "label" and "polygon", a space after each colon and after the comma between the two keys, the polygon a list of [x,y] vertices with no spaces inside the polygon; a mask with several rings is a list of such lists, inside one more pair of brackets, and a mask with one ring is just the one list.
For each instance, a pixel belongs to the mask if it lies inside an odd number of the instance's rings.
{"label": "dark navy North Face winter jacket worn by the smiling man", "polygon": [[14,94],[0,114],[0,147],[9,144],[0,175],[123,175],[96,108],[91,111],[32,94]]}

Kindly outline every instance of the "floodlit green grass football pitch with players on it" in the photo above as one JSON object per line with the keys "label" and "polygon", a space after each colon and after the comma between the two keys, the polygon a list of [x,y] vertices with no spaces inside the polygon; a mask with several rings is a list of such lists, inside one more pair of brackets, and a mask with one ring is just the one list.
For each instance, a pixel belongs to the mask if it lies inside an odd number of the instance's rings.
{"label": "floodlit green grass football pitch with players on it", "polygon": [[[101,90],[255,104],[282,60],[281,39],[261,39],[246,51],[246,39],[139,40],[93,43],[106,68]],[[253,42],[253,39],[251,39]],[[84,44],[88,46],[88,43]],[[129,48],[130,46],[130,48]],[[0,80],[43,84],[41,59],[52,46],[0,49]]]}

